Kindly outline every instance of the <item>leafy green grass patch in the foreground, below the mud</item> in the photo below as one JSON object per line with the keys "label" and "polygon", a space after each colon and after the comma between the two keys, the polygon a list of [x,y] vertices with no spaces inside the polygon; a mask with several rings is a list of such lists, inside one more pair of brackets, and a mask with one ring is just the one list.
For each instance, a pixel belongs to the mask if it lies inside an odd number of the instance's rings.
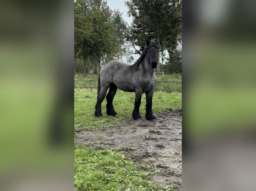
{"label": "leafy green grass patch in the foreground, below the mud", "polygon": [[151,173],[137,170],[141,168],[153,167],[135,164],[115,150],[96,150],[79,146],[75,149],[75,191],[175,190],[173,186],[153,184],[148,180]]}

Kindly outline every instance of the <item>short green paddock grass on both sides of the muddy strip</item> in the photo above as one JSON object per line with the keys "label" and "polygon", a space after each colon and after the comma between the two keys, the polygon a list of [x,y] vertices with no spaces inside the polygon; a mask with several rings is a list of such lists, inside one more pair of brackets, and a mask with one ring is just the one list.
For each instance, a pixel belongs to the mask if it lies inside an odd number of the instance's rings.
{"label": "short green paddock grass on both sides of the muddy strip", "polygon": [[[108,128],[124,123],[124,119],[132,118],[135,93],[118,90],[113,100],[113,105],[118,113],[117,117],[107,116],[106,99],[102,103],[103,118],[94,116],[94,107],[97,91],[89,89],[74,90],[76,128],[99,129]],[[145,116],[146,96],[142,95],[140,114]],[[181,94],[155,92],[152,109],[154,113],[168,108],[181,108]],[[96,140],[100,140],[97,137]],[[174,186],[163,187],[149,181],[150,176],[160,171],[156,167],[145,164],[136,164],[131,159],[116,153],[117,150],[97,150],[85,146],[76,146],[74,155],[74,183],[75,191],[100,190],[100,191],[175,191]],[[139,170],[140,169],[140,170]],[[144,169],[145,171],[142,171]]]}

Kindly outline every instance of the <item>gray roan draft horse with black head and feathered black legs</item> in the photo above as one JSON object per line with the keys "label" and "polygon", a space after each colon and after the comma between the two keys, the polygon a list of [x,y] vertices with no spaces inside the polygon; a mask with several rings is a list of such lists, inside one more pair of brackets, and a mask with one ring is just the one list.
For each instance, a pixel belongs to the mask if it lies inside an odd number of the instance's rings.
{"label": "gray roan draft horse with black head and feathered black legs", "polygon": [[133,65],[112,60],[104,64],[100,70],[98,81],[98,96],[95,105],[95,116],[102,117],[101,104],[109,88],[107,98],[107,114],[117,115],[113,107],[113,99],[117,88],[125,92],[135,92],[134,109],[132,118],[141,120],[139,107],[142,93],[146,94],[146,119],[155,121],[156,117],[152,111],[152,97],[156,76],[154,70],[157,66],[157,43],[150,43],[147,40],[147,47],[140,58]]}

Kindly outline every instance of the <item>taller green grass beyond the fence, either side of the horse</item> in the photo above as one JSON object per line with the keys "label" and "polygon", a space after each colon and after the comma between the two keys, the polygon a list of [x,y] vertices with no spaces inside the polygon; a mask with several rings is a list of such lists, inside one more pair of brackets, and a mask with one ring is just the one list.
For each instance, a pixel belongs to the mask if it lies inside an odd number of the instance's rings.
{"label": "taller green grass beyond the fence, either side of the horse", "polygon": [[[75,81],[75,87],[90,87],[90,75],[75,75],[75,80],[88,80],[88,81]],[[181,90],[181,83],[173,83],[173,82],[181,82],[182,75],[159,75],[157,77],[157,82],[155,85],[156,90],[166,90],[167,93],[180,91],[167,91],[167,90]],[[93,87],[98,86],[98,75],[93,75]]]}

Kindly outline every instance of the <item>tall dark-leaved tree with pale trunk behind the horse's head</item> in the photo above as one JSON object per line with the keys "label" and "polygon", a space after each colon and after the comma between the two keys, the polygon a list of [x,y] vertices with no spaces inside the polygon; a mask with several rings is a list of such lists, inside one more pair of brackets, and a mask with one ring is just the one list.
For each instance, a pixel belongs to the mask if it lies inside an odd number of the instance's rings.
{"label": "tall dark-leaved tree with pale trunk behind the horse's head", "polygon": [[[181,38],[181,0],[129,0],[126,1],[128,16],[133,17],[127,39],[140,47],[140,54],[147,39],[157,41],[160,52],[172,51]],[[160,46],[161,45],[161,46]],[[157,65],[159,73],[160,65]]]}

